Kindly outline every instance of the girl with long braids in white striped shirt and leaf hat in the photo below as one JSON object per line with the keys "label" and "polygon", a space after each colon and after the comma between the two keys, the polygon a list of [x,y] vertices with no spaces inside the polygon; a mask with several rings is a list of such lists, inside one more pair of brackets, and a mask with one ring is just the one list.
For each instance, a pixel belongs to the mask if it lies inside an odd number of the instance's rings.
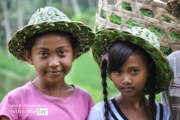
{"label": "girl with long braids in white striped shirt and leaf hat", "polygon": [[[172,77],[169,63],[155,47],[157,44],[158,41],[115,28],[96,33],[92,50],[95,61],[101,63],[104,101],[91,109],[88,120],[171,119],[169,109],[155,102],[155,94],[165,90]],[[111,99],[107,97],[107,77],[120,92]]]}

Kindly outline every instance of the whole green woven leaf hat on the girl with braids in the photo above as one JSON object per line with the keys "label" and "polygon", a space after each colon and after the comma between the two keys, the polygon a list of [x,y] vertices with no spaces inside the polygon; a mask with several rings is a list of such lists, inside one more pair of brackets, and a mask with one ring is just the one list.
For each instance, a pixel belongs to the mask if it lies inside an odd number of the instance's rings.
{"label": "whole green woven leaf hat on the girl with braids", "polygon": [[[164,54],[159,50],[159,41],[156,37],[153,37],[153,33],[146,28],[134,28],[129,30],[104,28],[97,31],[92,51],[94,60],[99,66],[102,61],[102,56],[107,52],[108,45],[118,41],[131,42],[141,47],[154,60],[156,65],[155,93],[160,93],[168,88],[172,78],[169,63],[164,57]],[[111,79],[109,75],[108,77]],[[149,91],[151,91],[151,87],[147,85],[145,88],[145,94],[149,94]]]}

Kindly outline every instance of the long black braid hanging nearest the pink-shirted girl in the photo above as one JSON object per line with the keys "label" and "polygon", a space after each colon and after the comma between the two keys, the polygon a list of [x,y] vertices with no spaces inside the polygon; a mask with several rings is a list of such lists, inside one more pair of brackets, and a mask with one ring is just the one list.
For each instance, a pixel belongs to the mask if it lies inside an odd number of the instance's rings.
{"label": "long black braid hanging nearest the pink-shirted girl", "polygon": [[106,72],[107,69],[107,60],[102,60],[101,64],[101,77],[102,77],[102,86],[103,86],[103,95],[104,95],[104,116],[105,120],[109,120],[109,110],[110,110],[110,105],[108,102],[108,92],[107,92],[107,82],[106,82]]}

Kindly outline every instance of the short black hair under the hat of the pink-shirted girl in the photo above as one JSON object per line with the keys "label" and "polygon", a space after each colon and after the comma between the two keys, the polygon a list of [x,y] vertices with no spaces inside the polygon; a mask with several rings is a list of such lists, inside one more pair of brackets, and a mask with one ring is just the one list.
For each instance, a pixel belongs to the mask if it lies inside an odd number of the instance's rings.
{"label": "short black hair under the hat of the pink-shirted girl", "polygon": [[78,47],[78,40],[76,37],[73,36],[72,33],[69,33],[69,32],[65,32],[65,31],[47,31],[47,32],[44,32],[44,33],[39,33],[39,34],[36,34],[32,37],[29,37],[26,42],[24,43],[24,50],[27,50],[30,54],[31,54],[31,51],[32,51],[32,47],[35,45],[35,43],[37,42],[37,40],[39,40],[41,37],[43,37],[44,35],[46,35],[47,33],[52,33],[52,34],[55,34],[55,35],[58,35],[58,36],[64,36],[66,37],[73,50]]}

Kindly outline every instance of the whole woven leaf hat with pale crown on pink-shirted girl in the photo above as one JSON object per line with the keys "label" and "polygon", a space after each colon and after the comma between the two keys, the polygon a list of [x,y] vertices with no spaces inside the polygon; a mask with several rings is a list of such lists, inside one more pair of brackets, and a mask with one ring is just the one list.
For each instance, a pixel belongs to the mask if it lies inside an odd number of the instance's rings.
{"label": "whole woven leaf hat with pale crown on pink-shirted girl", "polygon": [[38,9],[30,18],[27,26],[18,30],[10,39],[8,47],[12,55],[25,61],[24,43],[27,38],[47,31],[65,31],[78,39],[78,57],[87,52],[94,42],[94,33],[81,22],[72,22],[64,13],[54,7]]}

